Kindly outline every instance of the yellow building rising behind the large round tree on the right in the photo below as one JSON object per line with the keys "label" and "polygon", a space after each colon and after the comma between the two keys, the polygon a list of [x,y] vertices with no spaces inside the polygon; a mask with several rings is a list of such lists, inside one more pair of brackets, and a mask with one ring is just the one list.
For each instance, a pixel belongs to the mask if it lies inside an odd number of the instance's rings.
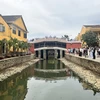
{"label": "yellow building rising behind the large round tree on the right", "polygon": [[97,34],[97,37],[99,38],[99,46],[100,46],[100,25],[83,25],[81,32],[76,37],[76,40],[81,41],[82,35],[88,31],[92,31]]}

